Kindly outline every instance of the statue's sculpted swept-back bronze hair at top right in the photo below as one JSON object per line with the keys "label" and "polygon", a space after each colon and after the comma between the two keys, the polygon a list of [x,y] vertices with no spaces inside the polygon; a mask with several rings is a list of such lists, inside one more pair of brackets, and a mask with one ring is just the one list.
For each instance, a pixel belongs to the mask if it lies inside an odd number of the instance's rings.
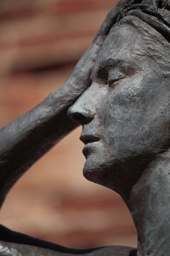
{"label": "statue's sculpted swept-back bronze hair at top right", "polygon": [[142,58],[150,57],[165,75],[170,74],[170,1],[131,0],[117,16],[115,26],[133,26],[142,34]]}

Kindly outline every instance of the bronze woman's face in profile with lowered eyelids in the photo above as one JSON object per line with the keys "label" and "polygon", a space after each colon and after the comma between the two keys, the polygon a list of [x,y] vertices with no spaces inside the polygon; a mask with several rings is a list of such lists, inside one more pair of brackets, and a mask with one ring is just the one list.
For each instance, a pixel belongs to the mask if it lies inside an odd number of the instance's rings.
{"label": "bronze woman's face in profile with lowered eyelids", "polygon": [[104,41],[91,86],[69,109],[82,124],[84,176],[128,188],[155,154],[169,146],[170,85],[153,65],[142,35],[115,26]]}

